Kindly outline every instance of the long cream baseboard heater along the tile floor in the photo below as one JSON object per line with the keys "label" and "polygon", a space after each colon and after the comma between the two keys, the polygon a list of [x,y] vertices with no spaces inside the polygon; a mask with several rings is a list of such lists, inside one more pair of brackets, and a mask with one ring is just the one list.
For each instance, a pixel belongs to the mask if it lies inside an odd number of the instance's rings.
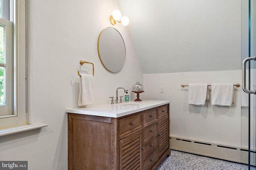
{"label": "long cream baseboard heater along the tile floor", "polygon": [[[170,136],[170,148],[183,152],[248,164],[248,150],[240,147]],[[256,151],[251,150],[250,154],[251,165],[255,166],[255,159],[252,158],[256,157]]]}

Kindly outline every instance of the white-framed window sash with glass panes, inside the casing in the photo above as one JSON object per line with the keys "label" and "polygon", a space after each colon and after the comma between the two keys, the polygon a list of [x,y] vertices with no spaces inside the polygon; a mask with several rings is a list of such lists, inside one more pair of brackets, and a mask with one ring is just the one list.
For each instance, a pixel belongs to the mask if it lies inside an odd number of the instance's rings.
{"label": "white-framed window sash with glass panes, inside the casing", "polygon": [[0,0],[0,116],[13,112],[13,29],[10,1]]}

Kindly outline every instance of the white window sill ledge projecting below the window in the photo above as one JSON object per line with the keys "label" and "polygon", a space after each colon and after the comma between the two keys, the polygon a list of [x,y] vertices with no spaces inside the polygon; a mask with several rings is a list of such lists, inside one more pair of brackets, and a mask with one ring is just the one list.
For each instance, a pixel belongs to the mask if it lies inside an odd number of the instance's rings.
{"label": "white window sill ledge projecting below the window", "polygon": [[46,123],[22,125],[0,130],[0,142],[24,137],[40,132],[40,128],[48,126]]}

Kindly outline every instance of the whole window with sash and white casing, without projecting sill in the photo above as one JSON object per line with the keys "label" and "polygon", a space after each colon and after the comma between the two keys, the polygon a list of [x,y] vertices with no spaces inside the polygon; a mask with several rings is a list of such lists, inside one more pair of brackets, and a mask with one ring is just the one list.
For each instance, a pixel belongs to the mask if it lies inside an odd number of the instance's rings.
{"label": "whole window with sash and white casing, without projecting sill", "polygon": [[0,0],[0,129],[28,124],[27,0]]}

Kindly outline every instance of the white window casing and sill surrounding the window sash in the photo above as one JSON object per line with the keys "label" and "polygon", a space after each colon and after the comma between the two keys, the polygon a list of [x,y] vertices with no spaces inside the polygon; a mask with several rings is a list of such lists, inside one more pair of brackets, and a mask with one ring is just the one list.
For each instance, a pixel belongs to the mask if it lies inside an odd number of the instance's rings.
{"label": "white window casing and sill surrounding the window sash", "polygon": [[0,119],[0,142],[40,132],[47,124],[29,124],[26,113],[26,4],[27,0],[12,0],[14,24],[14,114]]}

